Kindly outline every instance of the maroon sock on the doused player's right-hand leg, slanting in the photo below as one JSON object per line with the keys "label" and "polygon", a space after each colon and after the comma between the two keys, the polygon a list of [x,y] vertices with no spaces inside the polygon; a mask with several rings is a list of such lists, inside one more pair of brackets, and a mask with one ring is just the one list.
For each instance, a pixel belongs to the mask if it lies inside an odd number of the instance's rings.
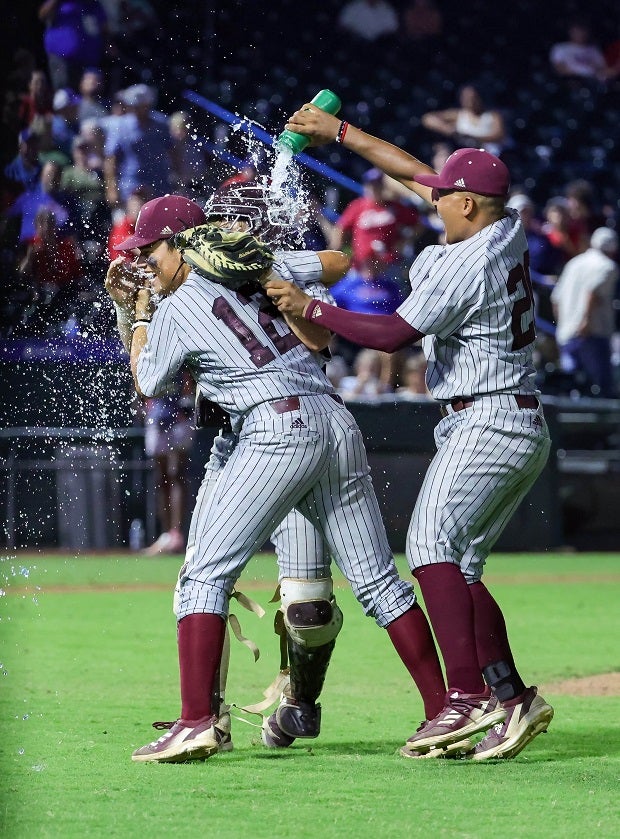
{"label": "maroon sock on the doused player's right-hand leg, slanting", "polygon": [[418,686],[426,719],[432,720],[444,706],[446,686],[426,615],[416,603],[408,612],[396,618],[387,627],[387,632]]}

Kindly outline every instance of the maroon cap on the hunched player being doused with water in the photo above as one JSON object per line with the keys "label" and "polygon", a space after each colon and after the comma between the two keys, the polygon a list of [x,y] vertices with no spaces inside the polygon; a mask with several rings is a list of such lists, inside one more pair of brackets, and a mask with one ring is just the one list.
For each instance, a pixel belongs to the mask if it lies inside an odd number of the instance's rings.
{"label": "maroon cap on the hunched player being doused with water", "polygon": [[175,233],[204,224],[204,210],[183,195],[163,195],[147,201],[140,209],[132,236],[115,245],[114,250],[130,251],[144,248],[159,239],[170,239]]}

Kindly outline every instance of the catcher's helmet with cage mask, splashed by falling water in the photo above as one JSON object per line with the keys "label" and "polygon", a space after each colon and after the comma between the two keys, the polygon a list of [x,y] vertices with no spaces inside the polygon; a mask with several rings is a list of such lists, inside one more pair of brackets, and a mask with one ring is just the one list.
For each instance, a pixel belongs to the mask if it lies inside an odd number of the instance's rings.
{"label": "catcher's helmet with cage mask, splashed by falling water", "polygon": [[222,187],[205,204],[208,222],[245,221],[248,232],[271,248],[301,244],[302,234],[286,208],[270,196],[269,188],[257,181]]}

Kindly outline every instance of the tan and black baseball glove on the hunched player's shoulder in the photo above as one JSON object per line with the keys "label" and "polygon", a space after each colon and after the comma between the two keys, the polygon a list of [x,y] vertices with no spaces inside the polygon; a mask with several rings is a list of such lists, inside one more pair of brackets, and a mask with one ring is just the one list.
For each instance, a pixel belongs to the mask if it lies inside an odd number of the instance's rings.
{"label": "tan and black baseball glove on the hunched player's shoulder", "polygon": [[233,291],[248,283],[258,286],[271,268],[273,252],[249,233],[231,233],[201,224],[177,233],[172,244],[199,274]]}

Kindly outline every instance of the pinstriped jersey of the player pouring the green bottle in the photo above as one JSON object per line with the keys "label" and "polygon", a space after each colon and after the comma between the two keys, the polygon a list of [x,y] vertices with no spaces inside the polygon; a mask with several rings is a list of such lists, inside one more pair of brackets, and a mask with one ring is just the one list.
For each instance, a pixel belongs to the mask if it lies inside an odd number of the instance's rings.
{"label": "pinstriped jersey of the player pouring the green bottle", "polygon": [[425,248],[397,309],[425,334],[427,385],[439,401],[535,393],[534,300],[519,214],[453,245]]}

